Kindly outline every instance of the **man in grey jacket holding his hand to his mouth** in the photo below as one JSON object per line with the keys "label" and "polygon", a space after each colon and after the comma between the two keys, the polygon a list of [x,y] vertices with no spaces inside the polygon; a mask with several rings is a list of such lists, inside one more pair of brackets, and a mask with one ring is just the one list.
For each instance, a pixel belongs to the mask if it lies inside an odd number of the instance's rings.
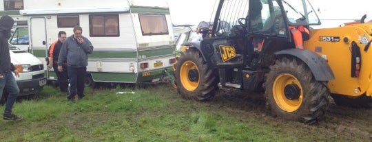
{"label": "man in grey jacket holding his hand to his mouth", "polygon": [[63,71],[62,64],[67,61],[68,82],[70,95],[68,99],[74,102],[75,95],[82,99],[85,87],[85,73],[87,72],[87,54],[92,54],[93,45],[90,40],[82,36],[83,29],[76,25],[74,34],[66,38],[58,58],[58,70]]}

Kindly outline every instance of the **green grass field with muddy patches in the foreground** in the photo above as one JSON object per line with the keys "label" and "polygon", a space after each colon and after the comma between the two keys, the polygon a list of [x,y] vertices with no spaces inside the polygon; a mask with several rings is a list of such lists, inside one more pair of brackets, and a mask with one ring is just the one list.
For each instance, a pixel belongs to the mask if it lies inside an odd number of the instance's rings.
{"label": "green grass field with muddy patches in the foreground", "polygon": [[[225,94],[220,91],[211,102],[194,102],[182,99],[169,84],[144,89],[86,88],[84,99],[70,103],[65,93],[45,86],[36,97],[14,105],[13,112],[22,115],[22,121],[0,121],[0,141],[372,140],[371,110],[357,110],[345,118],[349,126],[364,128],[340,127],[344,126],[338,118],[342,113],[306,126],[266,115],[260,95]],[[366,118],[358,123],[352,120],[355,116]]]}

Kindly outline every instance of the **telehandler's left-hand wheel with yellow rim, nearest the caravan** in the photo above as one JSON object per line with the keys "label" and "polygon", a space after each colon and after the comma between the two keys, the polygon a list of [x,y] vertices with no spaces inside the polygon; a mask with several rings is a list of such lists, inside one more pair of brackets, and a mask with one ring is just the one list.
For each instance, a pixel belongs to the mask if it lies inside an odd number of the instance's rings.
{"label": "telehandler's left-hand wheel with yellow rim, nearest the caravan", "polygon": [[217,72],[208,67],[199,51],[182,52],[174,67],[174,83],[183,98],[206,101],[214,96],[218,88]]}

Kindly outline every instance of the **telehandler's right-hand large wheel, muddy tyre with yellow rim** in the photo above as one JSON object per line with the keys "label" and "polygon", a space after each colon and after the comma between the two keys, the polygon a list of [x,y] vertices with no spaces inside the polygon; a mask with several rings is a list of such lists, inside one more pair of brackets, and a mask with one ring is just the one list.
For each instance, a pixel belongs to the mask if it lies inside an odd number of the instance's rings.
{"label": "telehandler's right-hand large wheel, muddy tyre with yellow rim", "polygon": [[329,107],[326,82],[318,82],[302,61],[282,58],[270,67],[265,82],[266,106],[275,117],[311,124]]}

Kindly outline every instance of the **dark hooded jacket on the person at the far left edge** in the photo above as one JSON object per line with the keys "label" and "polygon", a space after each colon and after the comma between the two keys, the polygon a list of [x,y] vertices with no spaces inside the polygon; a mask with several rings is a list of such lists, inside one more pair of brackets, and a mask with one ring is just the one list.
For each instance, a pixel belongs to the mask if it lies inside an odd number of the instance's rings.
{"label": "dark hooded jacket on the person at the far left edge", "polygon": [[12,34],[14,20],[10,16],[1,16],[0,18],[0,73],[14,71],[14,66],[10,62],[8,39]]}

